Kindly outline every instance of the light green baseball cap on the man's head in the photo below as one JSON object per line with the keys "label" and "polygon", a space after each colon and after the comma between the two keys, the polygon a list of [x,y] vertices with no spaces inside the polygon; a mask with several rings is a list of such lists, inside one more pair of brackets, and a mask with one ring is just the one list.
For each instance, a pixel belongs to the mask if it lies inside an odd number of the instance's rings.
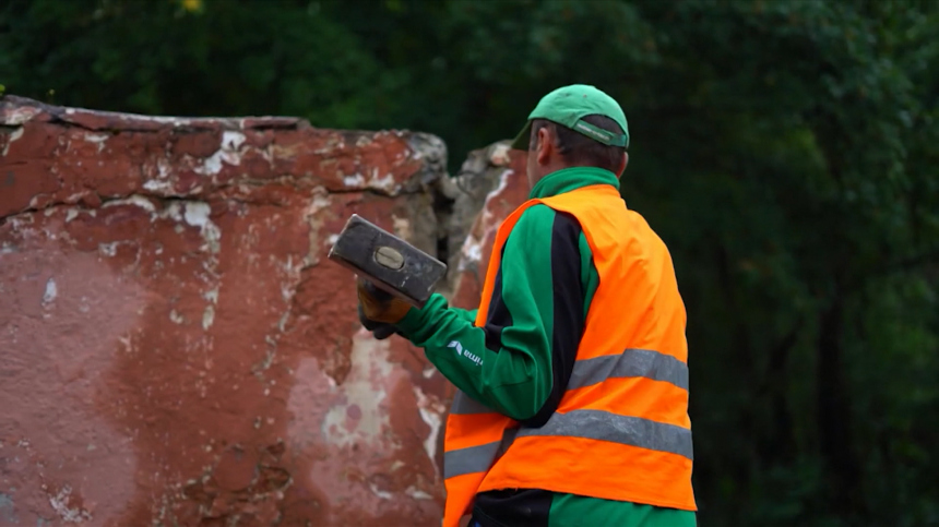
{"label": "light green baseball cap on the man's head", "polygon": [[[622,128],[618,134],[597,128],[583,120],[586,116],[601,115],[613,119]],[[629,146],[629,128],[622,108],[609,95],[586,84],[562,86],[542,97],[535,109],[528,113],[528,122],[512,141],[512,148],[528,149],[528,137],[532,134],[532,119],[547,119],[605,145]]]}

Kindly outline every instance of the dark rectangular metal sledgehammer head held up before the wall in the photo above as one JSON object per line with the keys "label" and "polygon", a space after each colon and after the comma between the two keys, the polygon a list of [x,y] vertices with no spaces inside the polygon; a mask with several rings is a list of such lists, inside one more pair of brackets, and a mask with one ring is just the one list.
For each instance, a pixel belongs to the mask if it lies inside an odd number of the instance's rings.
{"label": "dark rectangular metal sledgehammer head held up before the wall", "polygon": [[358,214],[346,221],[329,259],[418,308],[447,274],[447,264]]}

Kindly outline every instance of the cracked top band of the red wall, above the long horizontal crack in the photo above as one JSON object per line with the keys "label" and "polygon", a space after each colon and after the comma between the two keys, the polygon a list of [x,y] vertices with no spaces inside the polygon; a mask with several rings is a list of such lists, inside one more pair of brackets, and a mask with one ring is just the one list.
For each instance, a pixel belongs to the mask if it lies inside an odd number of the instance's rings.
{"label": "cracked top band of the red wall, above the long horizontal crack", "polygon": [[[146,140],[150,146],[131,159],[140,173],[126,168],[120,175],[127,188],[123,192],[74,184],[75,175],[66,181],[62,172],[74,167],[57,165],[56,158],[70,148],[83,147],[72,144],[76,140],[95,145],[100,161],[108,158],[109,142],[126,146],[129,140],[121,140],[122,135],[134,134],[139,142],[135,134],[140,133],[151,137]],[[33,152],[16,158],[15,148],[11,151],[16,142],[32,142]],[[45,170],[34,169],[33,177],[40,172],[58,179],[46,182],[47,191],[33,193],[28,202],[8,196],[5,205],[0,202],[0,217],[74,204],[92,193],[98,194],[90,200],[94,204],[131,194],[201,197],[226,187],[272,183],[299,191],[324,187],[330,193],[393,197],[427,192],[447,173],[445,144],[424,132],[317,129],[304,119],[287,117],[152,117],[52,106],[12,95],[0,97],[0,187],[16,184],[17,168],[24,170],[16,165],[24,161],[43,165]],[[376,166],[376,156],[382,159],[384,171],[362,173],[359,167]],[[112,167],[102,170],[107,168]],[[257,172],[276,177],[259,179]]]}

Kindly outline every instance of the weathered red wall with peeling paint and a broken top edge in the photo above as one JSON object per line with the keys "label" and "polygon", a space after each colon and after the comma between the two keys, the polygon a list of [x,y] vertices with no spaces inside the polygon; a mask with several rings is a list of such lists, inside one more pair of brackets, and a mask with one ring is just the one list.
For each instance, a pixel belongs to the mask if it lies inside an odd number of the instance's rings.
{"label": "weathered red wall with peeling paint and a broken top edge", "polygon": [[426,134],[0,99],[0,525],[439,525],[452,387],[325,253],[352,213],[460,247],[485,203],[473,268],[523,177],[480,152],[470,195]]}

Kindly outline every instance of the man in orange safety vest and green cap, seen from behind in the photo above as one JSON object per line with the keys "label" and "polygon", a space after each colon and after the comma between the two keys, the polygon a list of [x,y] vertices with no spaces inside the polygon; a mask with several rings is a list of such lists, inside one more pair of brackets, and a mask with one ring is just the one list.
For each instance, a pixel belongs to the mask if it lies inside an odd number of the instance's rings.
{"label": "man in orange safety vest and green cap, seen from behind", "polygon": [[364,325],[423,347],[460,390],[444,527],[696,525],[685,307],[667,248],[619,195],[628,144],[599,89],[549,93],[513,143],[531,195],[499,228],[478,310],[358,283]]}

